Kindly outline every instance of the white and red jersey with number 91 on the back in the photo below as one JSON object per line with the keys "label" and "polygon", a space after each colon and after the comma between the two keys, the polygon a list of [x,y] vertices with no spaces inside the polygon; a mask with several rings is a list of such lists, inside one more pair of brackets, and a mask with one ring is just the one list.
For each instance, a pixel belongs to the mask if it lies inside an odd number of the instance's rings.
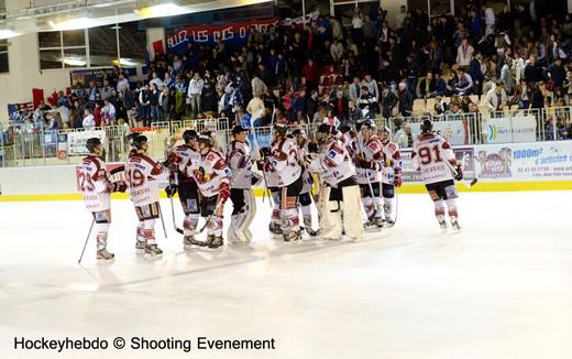
{"label": "white and red jersey with number 91 on the back", "polygon": [[414,170],[421,171],[425,184],[453,180],[449,165],[457,165],[457,159],[449,142],[435,133],[424,133],[414,143],[411,162]]}

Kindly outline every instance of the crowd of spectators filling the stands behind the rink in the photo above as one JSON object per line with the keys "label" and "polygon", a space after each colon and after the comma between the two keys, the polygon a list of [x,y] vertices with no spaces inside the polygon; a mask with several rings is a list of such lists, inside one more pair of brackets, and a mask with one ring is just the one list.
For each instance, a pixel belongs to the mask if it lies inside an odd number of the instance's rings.
{"label": "crowd of spectators filling the stands behind the rink", "polygon": [[[54,112],[63,128],[187,117],[351,126],[411,116],[416,99],[431,99],[431,115],[571,105],[570,15],[546,13],[535,1],[510,3],[495,11],[472,1],[455,17],[433,18],[402,7],[394,28],[383,9],[360,8],[348,28],[322,15],[304,28],[253,26],[238,48],[189,43],[183,53],[157,54],[136,86],[120,68],[106,74],[101,87],[75,86],[69,96],[61,94],[57,111],[43,104],[26,126],[53,129]],[[16,112],[11,120],[23,118]],[[572,137],[570,120],[553,122]],[[405,124],[399,131],[408,138]]]}

